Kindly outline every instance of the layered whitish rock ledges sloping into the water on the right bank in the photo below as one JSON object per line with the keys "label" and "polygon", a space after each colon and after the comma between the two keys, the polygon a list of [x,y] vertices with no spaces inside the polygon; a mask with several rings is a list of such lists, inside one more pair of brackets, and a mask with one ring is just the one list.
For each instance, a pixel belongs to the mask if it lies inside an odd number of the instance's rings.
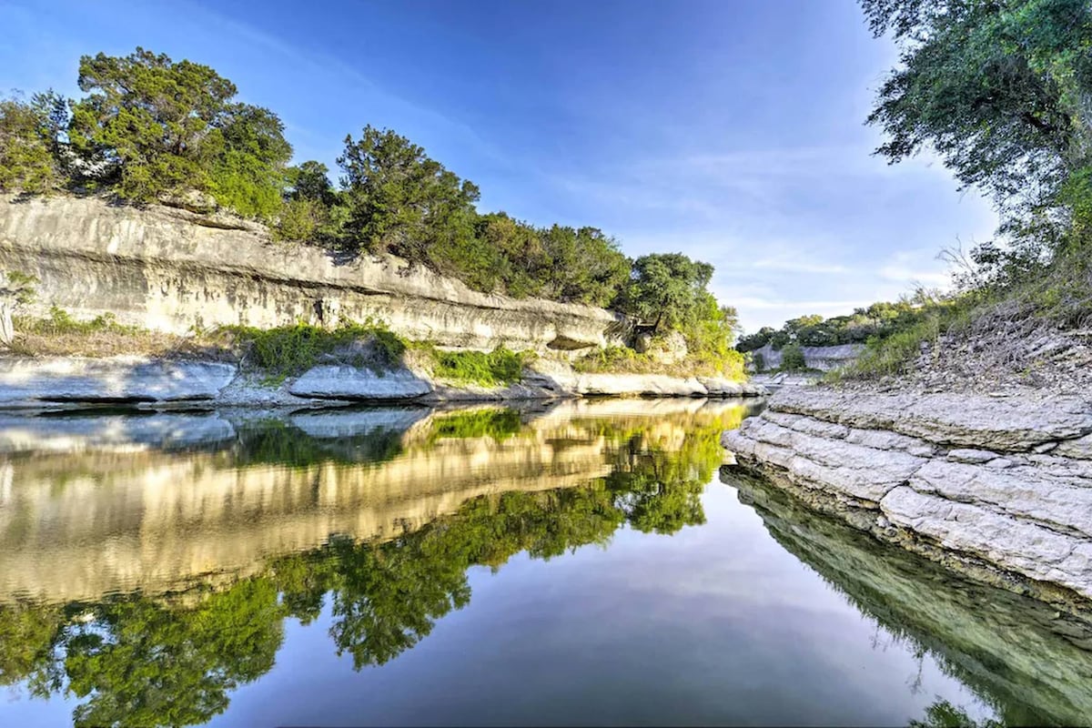
{"label": "layered whitish rock ledges sloping into the water on the right bank", "polygon": [[722,443],[795,487],[871,509],[864,527],[878,536],[1092,598],[1090,432],[1092,405],[1078,397],[795,387]]}

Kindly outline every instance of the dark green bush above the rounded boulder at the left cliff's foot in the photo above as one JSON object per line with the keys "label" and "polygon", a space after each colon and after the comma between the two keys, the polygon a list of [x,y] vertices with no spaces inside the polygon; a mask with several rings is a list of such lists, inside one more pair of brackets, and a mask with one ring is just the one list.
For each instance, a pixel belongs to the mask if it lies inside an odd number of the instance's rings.
{"label": "dark green bush above the rounded boulder at the left cliff's foot", "polygon": [[228,327],[247,349],[252,366],[275,378],[301,374],[319,362],[320,357],[360,343],[355,353],[343,355],[357,366],[382,373],[402,363],[405,343],[385,327],[367,322],[322,329],[306,323],[276,329]]}

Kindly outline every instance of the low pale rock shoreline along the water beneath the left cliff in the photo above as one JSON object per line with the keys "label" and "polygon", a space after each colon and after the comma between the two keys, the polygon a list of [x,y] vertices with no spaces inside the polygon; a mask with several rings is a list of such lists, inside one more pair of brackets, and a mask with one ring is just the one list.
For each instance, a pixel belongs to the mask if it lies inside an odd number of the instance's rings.
{"label": "low pale rock shoreline along the water beneath the left cliff", "polygon": [[432,380],[408,368],[382,373],[320,365],[299,377],[270,380],[238,365],[143,357],[0,358],[0,409],[87,403],[153,406],[330,406],[339,403],[505,402],[584,396],[746,397],[765,389],[748,382],[667,374],[580,373],[556,365],[529,368],[507,386]]}

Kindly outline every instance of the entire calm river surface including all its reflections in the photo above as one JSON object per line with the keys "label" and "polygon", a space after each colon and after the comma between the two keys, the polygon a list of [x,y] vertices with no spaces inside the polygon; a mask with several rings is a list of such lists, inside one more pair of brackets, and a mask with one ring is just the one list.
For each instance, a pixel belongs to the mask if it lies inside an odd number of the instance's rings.
{"label": "entire calm river surface including all its reflections", "polygon": [[0,418],[0,725],[1089,721],[1088,624],[721,469],[746,414]]}

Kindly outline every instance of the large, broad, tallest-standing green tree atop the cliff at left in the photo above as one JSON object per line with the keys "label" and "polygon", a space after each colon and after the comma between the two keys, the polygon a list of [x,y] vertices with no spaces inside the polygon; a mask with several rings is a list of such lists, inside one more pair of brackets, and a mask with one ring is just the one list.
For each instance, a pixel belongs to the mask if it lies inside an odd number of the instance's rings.
{"label": "large, broad, tallest-standing green tree atop the cliff at left", "polygon": [[233,103],[235,85],[207,65],[138,48],[127,57],[80,60],[68,136],[118,195],[151,202],[167,193],[212,192],[242,215],[280,204],[292,146],[272,111]]}

